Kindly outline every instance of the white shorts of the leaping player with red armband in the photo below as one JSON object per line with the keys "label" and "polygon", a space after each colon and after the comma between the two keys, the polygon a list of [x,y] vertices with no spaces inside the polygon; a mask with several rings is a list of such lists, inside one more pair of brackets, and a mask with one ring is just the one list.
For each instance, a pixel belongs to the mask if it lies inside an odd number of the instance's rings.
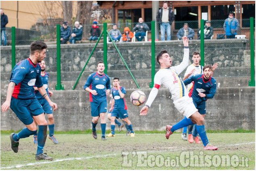
{"label": "white shorts of the leaping player with red armband", "polygon": [[188,95],[174,100],[173,104],[176,109],[187,118],[189,118],[193,113],[198,111],[193,103],[192,97],[189,97]]}

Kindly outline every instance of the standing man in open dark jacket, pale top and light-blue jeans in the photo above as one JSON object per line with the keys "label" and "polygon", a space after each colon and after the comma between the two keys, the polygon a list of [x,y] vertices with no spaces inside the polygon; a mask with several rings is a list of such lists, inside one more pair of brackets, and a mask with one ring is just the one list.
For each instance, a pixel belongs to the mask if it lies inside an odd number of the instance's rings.
{"label": "standing man in open dark jacket, pale top and light-blue jeans", "polygon": [[157,22],[160,22],[161,40],[164,41],[165,30],[167,33],[167,40],[171,40],[171,25],[175,20],[173,10],[168,7],[167,2],[163,2],[162,8],[156,15]]}

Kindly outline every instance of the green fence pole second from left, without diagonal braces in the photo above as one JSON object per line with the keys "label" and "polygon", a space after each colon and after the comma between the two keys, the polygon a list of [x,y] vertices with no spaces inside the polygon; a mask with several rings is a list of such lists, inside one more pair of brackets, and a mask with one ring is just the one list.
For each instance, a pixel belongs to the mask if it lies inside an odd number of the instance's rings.
{"label": "green fence pole second from left, without diagonal braces", "polygon": [[60,25],[56,25],[56,55],[57,55],[57,84],[55,85],[56,90],[64,90],[64,85],[60,84]]}

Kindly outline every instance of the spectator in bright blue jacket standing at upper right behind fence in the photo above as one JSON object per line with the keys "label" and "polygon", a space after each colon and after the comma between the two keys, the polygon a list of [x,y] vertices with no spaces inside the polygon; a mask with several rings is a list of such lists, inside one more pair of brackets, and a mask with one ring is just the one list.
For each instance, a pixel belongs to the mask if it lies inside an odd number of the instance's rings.
{"label": "spectator in bright blue jacket standing at upper right behind fence", "polygon": [[234,17],[233,12],[229,12],[229,17],[225,20],[223,29],[226,32],[227,39],[235,39],[236,32],[239,29],[239,22]]}

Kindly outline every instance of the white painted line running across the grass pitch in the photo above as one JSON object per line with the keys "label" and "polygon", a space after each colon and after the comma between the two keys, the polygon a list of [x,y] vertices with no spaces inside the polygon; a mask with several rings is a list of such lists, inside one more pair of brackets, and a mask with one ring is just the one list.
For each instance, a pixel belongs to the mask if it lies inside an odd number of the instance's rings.
{"label": "white painted line running across the grass pitch", "polygon": [[[228,145],[229,146],[238,146],[238,145],[244,145],[244,144],[255,144],[255,142],[244,142],[244,143],[241,143],[241,144],[228,144]],[[217,147],[221,147],[221,146],[217,146]],[[197,148],[200,148],[200,147],[178,148],[178,149],[158,150],[158,151],[148,151],[148,152],[166,152],[166,151],[188,150],[188,149],[197,149]],[[0,169],[12,169],[12,168],[19,168],[19,167],[23,167],[23,166],[42,165],[42,164],[48,164],[48,163],[56,163],[56,162],[60,162],[60,161],[82,160],[82,159],[91,159],[91,158],[94,158],[94,157],[107,157],[107,156],[115,156],[115,155],[117,155],[117,154],[113,153],[113,154],[101,155],[101,156],[75,157],[75,158],[69,158],[69,159],[56,159],[54,161],[35,162],[35,163],[28,163],[28,164],[25,164],[25,165],[15,165],[15,166],[9,166],[9,167],[1,167]]]}

